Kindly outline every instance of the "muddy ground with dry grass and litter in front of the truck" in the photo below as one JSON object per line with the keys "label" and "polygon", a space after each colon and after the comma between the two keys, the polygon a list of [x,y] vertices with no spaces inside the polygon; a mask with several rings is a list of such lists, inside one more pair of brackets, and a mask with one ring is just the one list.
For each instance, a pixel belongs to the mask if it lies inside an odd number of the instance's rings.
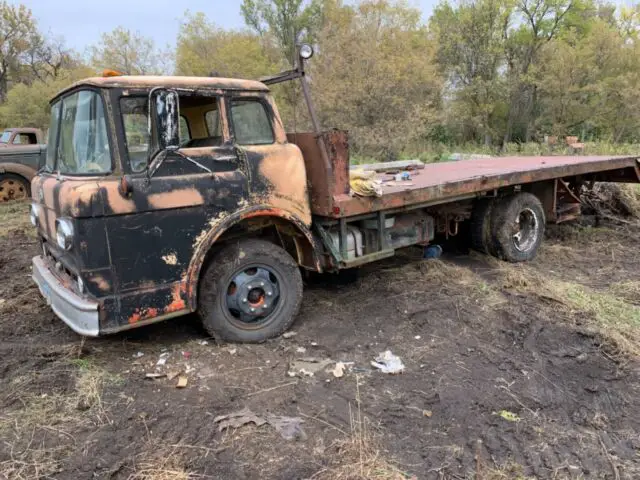
{"label": "muddy ground with dry grass and litter in front of the truck", "polygon": [[[75,335],[30,279],[25,212],[0,207],[2,478],[640,478],[633,223],[550,228],[527,265],[408,250],[311,282],[295,336],[217,345],[195,317]],[[371,366],[385,350],[403,374]],[[303,357],[353,363],[290,376]],[[303,433],[219,431],[245,408]]]}

